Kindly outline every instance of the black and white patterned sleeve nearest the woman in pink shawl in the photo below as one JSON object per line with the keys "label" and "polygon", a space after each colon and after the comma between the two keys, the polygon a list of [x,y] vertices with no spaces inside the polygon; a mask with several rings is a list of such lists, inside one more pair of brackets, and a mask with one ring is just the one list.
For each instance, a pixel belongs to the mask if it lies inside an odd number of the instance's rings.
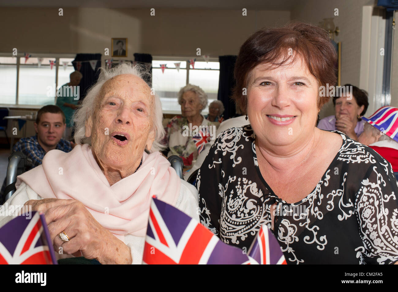
{"label": "black and white patterned sleeve nearest the woman in pink shawl", "polygon": [[198,170],[196,188],[199,192],[199,220],[211,232],[219,236],[220,214],[223,199],[221,157],[218,137]]}

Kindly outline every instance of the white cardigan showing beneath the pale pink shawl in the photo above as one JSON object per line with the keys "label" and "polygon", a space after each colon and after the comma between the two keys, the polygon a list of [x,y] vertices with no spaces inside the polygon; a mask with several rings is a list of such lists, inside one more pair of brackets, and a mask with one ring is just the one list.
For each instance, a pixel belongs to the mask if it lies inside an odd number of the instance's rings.
{"label": "white cardigan showing beneath the pale pink shawl", "polygon": [[[27,186],[24,182],[21,183],[18,190],[14,193],[14,195],[4,203],[4,205],[8,204],[14,206],[23,206],[29,200],[41,200],[40,197],[35,191],[33,191],[29,186]],[[6,205],[7,206],[7,205]],[[6,207],[5,206],[5,207]],[[179,196],[177,199],[177,203],[174,206],[180,211],[183,211],[185,214],[189,215],[193,219],[199,222],[199,213],[198,209],[198,192],[196,188],[181,180],[181,188],[179,191]],[[15,216],[0,216],[0,226],[3,226]],[[141,264],[142,263],[142,253],[144,252],[144,243],[145,237],[134,236],[131,234],[126,234],[124,238],[124,243],[130,248],[131,258],[133,259],[133,264]],[[55,253],[57,259],[65,258],[65,257],[73,257],[72,255],[59,255],[57,252]]]}

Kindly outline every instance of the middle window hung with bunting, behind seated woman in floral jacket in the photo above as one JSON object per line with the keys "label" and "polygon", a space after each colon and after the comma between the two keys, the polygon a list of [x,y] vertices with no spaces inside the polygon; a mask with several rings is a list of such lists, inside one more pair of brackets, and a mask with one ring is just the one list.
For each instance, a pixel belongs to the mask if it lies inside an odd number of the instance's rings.
{"label": "middle window hung with bunting, behind seated woman in floral jacket", "polygon": [[[178,62],[181,62],[179,71],[174,65],[174,63]],[[166,64],[166,69],[163,73],[160,68],[162,64]],[[163,112],[172,114],[181,114],[181,106],[178,104],[178,92],[181,87],[188,83],[201,87],[207,94],[209,101],[202,114],[207,114],[209,112],[209,104],[217,99],[220,63],[196,61],[194,69],[191,65],[187,68],[187,64],[189,64],[187,58],[153,60],[152,86],[160,97]]]}

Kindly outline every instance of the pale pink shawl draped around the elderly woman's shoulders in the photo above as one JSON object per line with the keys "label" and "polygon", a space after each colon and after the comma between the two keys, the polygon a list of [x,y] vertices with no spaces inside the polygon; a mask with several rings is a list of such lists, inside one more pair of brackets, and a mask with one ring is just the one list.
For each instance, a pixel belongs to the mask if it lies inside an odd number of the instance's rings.
{"label": "pale pink shawl draped around the elderly woman's shoulders", "polygon": [[181,181],[159,152],[144,153],[142,164],[113,186],[105,178],[88,144],[76,145],[70,153],[49,151],[43,164],[18,176],[43,198],[75,199],[117,238],[125,234],[145,236],[150,200],[175,205]]}

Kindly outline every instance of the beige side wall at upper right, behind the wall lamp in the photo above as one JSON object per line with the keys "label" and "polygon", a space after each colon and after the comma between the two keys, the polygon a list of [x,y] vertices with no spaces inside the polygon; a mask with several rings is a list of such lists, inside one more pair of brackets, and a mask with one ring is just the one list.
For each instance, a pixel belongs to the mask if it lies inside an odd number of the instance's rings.
{"label": "beige side wall at upper right, behind the wall lamp", "polygon": [[[359,86],[361,67],[362,6],[369,0],[307,0],[304,5],[291,11],[291,19],[299,19],[318,25],[324,18],[334,17],[334,24],[340,33],[336,42],[341,42],[341,85],[351,83]],[[334,16],[338,8],[339,15]],[[334,114],[330,101],[321,110],[321,118]]]}

